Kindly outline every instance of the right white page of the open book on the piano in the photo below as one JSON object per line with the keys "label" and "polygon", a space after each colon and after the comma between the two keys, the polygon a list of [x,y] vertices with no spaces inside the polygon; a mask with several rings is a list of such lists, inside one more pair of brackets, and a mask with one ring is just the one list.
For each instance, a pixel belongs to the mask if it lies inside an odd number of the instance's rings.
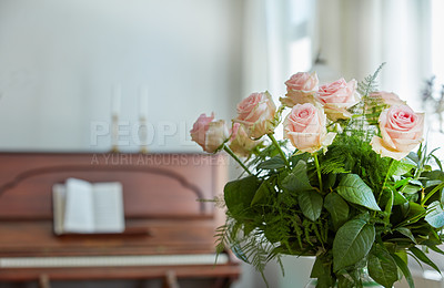
{"label": "right white page of the open book on the piano", "polygon": [[121,183],[94,183],[93,214],[97,233],[124,230],[123,196]]}

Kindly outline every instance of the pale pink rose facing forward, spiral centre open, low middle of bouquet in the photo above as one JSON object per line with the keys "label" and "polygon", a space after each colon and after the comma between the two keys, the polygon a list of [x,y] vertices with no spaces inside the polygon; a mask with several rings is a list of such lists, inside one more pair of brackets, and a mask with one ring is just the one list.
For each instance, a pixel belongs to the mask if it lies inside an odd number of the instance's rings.
{"label": "pale pink rose facing forward, spiral centre open, low middle of bouquet", "polygon": [[336,135],[326,133],[326,116],[311,103],[296,104],[284,121],[284,137],[302,152],[314,153],[330,145]]}

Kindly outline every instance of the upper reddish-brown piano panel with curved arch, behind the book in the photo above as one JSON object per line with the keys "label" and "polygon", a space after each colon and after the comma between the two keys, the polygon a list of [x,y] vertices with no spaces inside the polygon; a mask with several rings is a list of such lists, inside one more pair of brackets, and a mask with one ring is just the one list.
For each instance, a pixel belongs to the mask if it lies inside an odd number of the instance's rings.
{"label": "upper reddish-brown piano panel with curved arch, behind the book", "polygon": [[121,182],[128,218],[212,213],[196,199],[221,193],[213,175],[223,168],[222,157],[199,154],[0,153],[0,219],[52,218],[52,185],[68,177]]}

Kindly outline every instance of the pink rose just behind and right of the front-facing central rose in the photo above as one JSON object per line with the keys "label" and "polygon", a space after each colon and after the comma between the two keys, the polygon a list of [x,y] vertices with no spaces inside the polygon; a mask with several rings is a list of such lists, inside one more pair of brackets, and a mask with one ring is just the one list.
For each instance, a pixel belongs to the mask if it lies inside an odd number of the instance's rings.
{"label": "pink rose just behind and right of the front-facing central rose", "polygon": [[333,83],[320,86],[317,97],[324,105],[325,114],[330,120],[350,119],[352,114],[347,111],[359,102],[356,93],[356,80],[345,82],[342,78]]}

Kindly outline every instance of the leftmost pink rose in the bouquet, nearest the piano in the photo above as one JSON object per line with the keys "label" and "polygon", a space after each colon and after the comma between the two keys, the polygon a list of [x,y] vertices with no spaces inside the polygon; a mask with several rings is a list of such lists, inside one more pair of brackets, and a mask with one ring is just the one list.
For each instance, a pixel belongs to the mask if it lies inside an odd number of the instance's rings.
{"label": "leftmost pink rose in the bouquet, nearest the piano", "polygon": [[191,140],[196,142],[203,151],[209,153],[216,152],[221,145],[230,137],[225,121],[213,121],[214,113],[211,116],[201,114],[190,131]]}

